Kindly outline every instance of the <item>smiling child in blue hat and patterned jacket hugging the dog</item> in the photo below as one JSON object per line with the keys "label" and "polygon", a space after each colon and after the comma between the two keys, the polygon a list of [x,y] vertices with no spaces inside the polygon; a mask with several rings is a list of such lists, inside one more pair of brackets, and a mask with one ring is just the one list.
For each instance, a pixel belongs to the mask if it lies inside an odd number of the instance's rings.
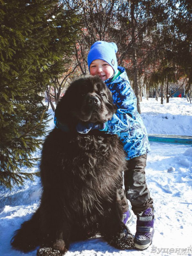
{"label": "smiling child in blue hat and patterned jacket hugging the dog", "polygon": [[[128,210],[129,199],[132,211],[137,216],[134,244],[137,249],[147,249],[154,233],[153,199],[150,197],[146,180],[145,167],[147,153],[150,151],[147,131],[137,111],[137,100],[130,86],[125,69],[117,66],[117,46],[104,41],[95,42],[88,54],[88,67],[91,75],[99,75],[113,95],[117,106],[116,114],[99,128],[100,131],[117,134],[124,144],[127,170],[124,174],[124,189],[120,189],[124,223],[131,219]],[[78,132],[86,133],[98,129],[90,123],[89,129],[79,125]],[[126,195],[126,197],[125,197]]]}

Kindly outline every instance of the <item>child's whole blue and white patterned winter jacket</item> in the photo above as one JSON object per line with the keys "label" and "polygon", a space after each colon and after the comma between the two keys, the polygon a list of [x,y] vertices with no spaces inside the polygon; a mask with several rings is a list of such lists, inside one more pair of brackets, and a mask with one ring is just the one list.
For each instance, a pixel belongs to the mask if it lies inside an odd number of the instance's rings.
{"label": "child's whole blue and white patterned winter jacket", "polygon": [[105,123],[105,128],[101,131],[119,136],[128,160],[148,153],[150,145],[145,125],[137,111],[137,99],[125,69],[118,66],[118,70],[121,74],[114,81],[112,78],[105,81],[118,109],[112,119]]}

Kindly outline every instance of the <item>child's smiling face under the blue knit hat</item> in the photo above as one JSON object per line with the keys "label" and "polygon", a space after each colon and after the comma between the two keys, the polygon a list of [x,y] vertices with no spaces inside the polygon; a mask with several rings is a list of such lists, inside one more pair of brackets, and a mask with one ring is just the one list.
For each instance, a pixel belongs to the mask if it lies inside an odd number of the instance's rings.
{"label": "child's smiling face under the blue knit hat", "polygon": [[113,68],[106,61],[99,59],[93,60],[89,69],[92,76],[98,75],[103,81],[113,76],[114,73]]}

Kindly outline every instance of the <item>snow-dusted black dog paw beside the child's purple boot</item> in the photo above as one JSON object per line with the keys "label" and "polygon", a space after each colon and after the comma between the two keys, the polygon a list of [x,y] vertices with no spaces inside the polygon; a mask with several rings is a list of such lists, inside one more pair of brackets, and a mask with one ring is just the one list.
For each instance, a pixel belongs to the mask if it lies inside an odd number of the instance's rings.
{"label": "snow-dusted black dog paw beside the child's purple boot", "polygon": [[121,250],[130,250],[135,248],[133,236],[131,232],[127,229],[124,229],[115,236],[112,236],[109,244]]}

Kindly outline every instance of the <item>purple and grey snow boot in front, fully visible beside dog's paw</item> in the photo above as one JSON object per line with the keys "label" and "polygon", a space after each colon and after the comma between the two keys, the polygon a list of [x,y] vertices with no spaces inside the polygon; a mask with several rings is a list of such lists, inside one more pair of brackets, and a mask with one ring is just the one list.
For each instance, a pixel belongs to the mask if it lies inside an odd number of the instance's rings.
{"label": "purple and grey snow boot in front, fully visible beside dog's paw", "polygon": [[138,250],[145,250],[152,242],[154,234],[154,208],[148,208],[137,215],[134,245]]}

